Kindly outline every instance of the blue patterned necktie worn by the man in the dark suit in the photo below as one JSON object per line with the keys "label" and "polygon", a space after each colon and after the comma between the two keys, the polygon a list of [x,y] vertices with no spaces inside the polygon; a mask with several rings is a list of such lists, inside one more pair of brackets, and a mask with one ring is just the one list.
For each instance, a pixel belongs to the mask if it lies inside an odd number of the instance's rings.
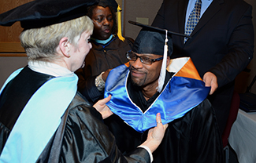
{"label": "blue patterned necktie worn by the man in the dark suit", "polygon": [[[187,20],[187,26],[185,27],[185,34],[191,35],[196,24],[198,24],[198,21],[200,20],[201,5],[202,5],[201,0],[196,0],[195,7],[191,11]],[[184,38],[184,43],[187,42],[187,39],[188,38]]]}

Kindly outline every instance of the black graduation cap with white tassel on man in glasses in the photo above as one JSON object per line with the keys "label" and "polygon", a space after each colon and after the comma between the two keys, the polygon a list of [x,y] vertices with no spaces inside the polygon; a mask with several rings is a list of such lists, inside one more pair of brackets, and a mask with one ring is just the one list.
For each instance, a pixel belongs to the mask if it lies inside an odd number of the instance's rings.
{"label": "black graduation cap with white tassel on man in glasses", "polygon": [[172,34],[176,34],[182,37],[190,38],[186,34],[179,34],[173,31],[168,31],[158,27],[151,27],[145,24],[139,24],[129,20],[130,24],[143,27],[135,42],[132,45],[132,51],[135,53],[149,53],[163,56],[163,61],[161,65],[161,73],[158,78],[158,92],[161,92],[161,89],[165,83],[165,74],[166,74],[166,60],[167,56],[171,56],[173,53],[173,41]]}

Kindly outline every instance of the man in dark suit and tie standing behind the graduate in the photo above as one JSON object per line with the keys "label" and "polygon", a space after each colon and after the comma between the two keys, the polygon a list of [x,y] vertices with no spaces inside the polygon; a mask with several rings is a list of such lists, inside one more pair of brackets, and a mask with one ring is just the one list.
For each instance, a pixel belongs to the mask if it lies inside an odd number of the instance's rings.
{"label": "man in dark suit and tie standing behind the graduate", "polygon": [[[152,26],[184,33],[195,0],[164,0]],[[206,86],[208,99],[224,131],[236,75],[254,53],[252,7],[243,0],[202,0],[201,16],[191,38],[173,35],[173,58],[190,56]],[[187,15],[186,15],[187,14]]]}

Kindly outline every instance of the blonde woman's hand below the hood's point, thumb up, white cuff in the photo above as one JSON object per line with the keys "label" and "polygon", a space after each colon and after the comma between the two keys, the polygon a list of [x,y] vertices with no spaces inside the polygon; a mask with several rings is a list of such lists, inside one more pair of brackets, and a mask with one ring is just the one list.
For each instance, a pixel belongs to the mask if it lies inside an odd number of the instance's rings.
{"label": "blonde woman's hand below the hood's point, thumb up, white cuff", "polygon": [[157,126],[149,130],[147,134],[147,140],[143,144],[141,144],[142,146],[149,147],[152,153],[160,145],[161,140],[165,136],[165,130],[168,127],[168,124],[162,125],[160,113],[157,114],[156,119],[157,119]]}

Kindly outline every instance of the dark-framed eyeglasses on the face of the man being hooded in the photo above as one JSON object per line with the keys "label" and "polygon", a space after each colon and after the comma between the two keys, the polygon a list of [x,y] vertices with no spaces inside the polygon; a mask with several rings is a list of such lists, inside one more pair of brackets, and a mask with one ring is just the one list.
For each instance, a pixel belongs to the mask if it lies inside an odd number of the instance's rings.
{"label": "dark-framed eyeglasses on the face of the man being hooded", "polygon": [[132,61],[136,61],[137,58],[139,58],[140,62],[141,63],[144,63],[144,64],[152,64],[154,63],[155,61],[158,61],[158,60],[162,60],[163,57],[160,57],[160,58],[156,58],[156,59],[150,59],[149,57],[147,56],[137,56],[134,52],[132,52],[132,50],[129,50],[127,53],[126,53],[126,57],[128,60],[132,60]]}

